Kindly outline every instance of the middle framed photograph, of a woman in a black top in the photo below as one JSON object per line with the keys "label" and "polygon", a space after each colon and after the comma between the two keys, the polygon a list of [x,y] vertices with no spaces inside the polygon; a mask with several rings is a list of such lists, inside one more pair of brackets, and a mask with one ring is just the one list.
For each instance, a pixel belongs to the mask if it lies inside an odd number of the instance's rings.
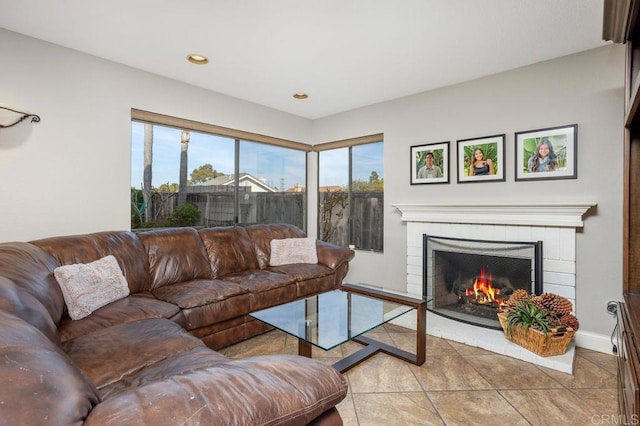
{"label": "middle framed photograph, of a woman in a black top", "polygon": [[504,134],[458,141],[458,183],[504,181]]}

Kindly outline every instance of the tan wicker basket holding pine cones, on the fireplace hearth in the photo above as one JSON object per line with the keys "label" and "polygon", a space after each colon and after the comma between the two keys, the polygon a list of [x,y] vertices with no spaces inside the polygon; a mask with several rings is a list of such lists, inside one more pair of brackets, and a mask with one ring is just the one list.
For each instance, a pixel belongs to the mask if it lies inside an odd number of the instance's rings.
{"label": "tan wicker basket holding pine cones, on the fireplace hearth", "polygon": [[498,313],[498,320],[500,320],[500,325],[507,339],[540,356],[564,354],[575,334],[573,328],[567,328],[564,331],[549,331],[544,334],[541,331],[524,328],[520,325],[514,326],[509,331],[507,313],[505,312]]}

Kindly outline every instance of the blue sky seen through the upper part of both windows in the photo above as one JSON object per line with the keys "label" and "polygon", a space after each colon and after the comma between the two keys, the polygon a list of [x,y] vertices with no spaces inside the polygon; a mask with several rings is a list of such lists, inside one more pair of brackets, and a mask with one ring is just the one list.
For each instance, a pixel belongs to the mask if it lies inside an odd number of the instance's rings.
{"label": "blue sky seen through the upper part of both windows", "polygon": [[[180,173],[180,141],[182,131],[154,125],[152,185],[178,183]],[[348,149],[322,151],[320,186],[346,185]],[[204,165],[225,174],[233,174],[234,140],[192,131],[187,156],[187,176]],[[288,189],[295,184],[306,186],[306,154],[302,151],[250,141],[240,143],[240,172],[264,178],[266,184]],[[144,124],[131,123],[131,186],[142,187],[144,169]],[[383,177],[382,144],[353,147],[353,179],[368,181],[372,171]]]}

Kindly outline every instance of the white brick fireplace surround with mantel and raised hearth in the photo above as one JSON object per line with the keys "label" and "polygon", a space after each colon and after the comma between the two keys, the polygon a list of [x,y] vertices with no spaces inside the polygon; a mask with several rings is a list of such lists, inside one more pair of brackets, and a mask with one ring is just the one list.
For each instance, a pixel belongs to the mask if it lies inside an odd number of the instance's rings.
{"label": "white brick fireplace surround with mantel and raised hearth", "polygon": [[[584,227],[583,215],[596,205],[593,201],[394,204],[406,225],[407,291],[412,294],[424,294],[424,264],[429,260],[424,258],[424,234],[460,239],[472,236],[489,241],[542,241],[544,273],[539,276],[543,280],[544,291],[564,296],[577,306],[576,234]],[[493,276],[495,275],[494,273]],[[404,327],[415,327],[415,316],[404,315],[399,317],[397,322]],[[438,315],[432,310],[427,312],[427,334],[477,346],[564,373],[573,371],[573,345],[565,355],[541,357],[505,339],[502,330],[469,325]],[[600,343],[581,331],[576,334],[576,342],[578,340],[581,340],[585,347],[600,347],[598,350],[601,352],[611,348],[608,339]]]}

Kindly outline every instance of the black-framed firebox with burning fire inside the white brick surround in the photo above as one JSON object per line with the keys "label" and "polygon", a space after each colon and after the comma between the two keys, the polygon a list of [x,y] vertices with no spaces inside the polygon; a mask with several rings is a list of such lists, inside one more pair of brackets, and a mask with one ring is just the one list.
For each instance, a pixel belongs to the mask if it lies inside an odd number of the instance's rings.
{"label": "black-framed firebox with burning fire inside the white brick surround", "polygon": [[501,305],[518,289],[542,293],[542,241],[423,235],[423,294],[443,317],[500,330]]}

